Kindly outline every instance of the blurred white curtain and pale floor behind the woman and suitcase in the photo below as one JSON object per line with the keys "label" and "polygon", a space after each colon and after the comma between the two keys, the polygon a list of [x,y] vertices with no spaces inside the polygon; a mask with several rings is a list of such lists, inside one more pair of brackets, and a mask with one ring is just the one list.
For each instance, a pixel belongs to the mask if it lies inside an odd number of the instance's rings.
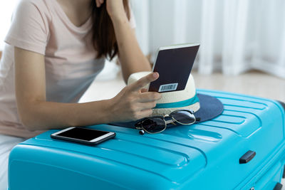
{"label": "blurred white curtain and pale floor behind the woman and suitcase", "polygon": [[[0,50],[17,1],[0,1]],[[130,1],[150,61],[160,46],[200,43],[192,70],[196,88],[285,102],[284,0]],[[107,62],[81,102],[113,97],[124,86],[118,65]]]}

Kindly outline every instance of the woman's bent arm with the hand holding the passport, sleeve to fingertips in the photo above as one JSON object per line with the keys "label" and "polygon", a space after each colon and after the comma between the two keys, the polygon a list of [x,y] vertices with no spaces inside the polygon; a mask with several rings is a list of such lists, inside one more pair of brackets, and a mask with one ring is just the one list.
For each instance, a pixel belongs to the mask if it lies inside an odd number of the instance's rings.
{"label": "woman's bent arm with the hand holding the passport, sleeve to fingertips", "polygon": [[155,73],[123,88],[110,100],[47,102],[44,56],[21,48],[14,49],[14,56],[16,102],[21,122],[28,130],[138,120],[149,116],[161,97],[159,93],[141,92],[147,83],[158,78]]}

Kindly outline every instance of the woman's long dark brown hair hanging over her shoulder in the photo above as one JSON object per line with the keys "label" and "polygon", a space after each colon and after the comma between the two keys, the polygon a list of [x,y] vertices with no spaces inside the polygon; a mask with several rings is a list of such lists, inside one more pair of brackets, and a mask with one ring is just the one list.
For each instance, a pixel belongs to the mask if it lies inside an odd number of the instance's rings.
{"label": "woman's long dark brown hair hanging over her shoulder", "polygon": [[[117,1],[117,0],[116,0]],[[125,13],[130,20],[130,7],[128,0],[123,0]],[[112,20],[106,9],[106,0],[99,8],[95,0],[92,0],[93,19],[93,46],[98,52],[97,58],[110,58],[112,60],[118,54],[118,43],[115,38],[115,30]]]}

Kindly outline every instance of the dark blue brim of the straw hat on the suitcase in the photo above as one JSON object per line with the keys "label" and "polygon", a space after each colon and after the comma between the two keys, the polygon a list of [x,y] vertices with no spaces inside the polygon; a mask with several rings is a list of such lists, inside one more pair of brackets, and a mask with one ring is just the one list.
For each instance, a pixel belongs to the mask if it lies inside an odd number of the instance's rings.
{"label": "dark blue brim of the straw hat on the suitcase", "polygon": [[[219,101],[216,97],[212,97],[210,95],[203,95],[197,93],[199,98],[200,108],[197,112],[194,113],[195,117],[199,117],[199,121],[197,122],[204,122],[207,120],[212,120],[214,117],[221,115],[224,110],[224,105],[221,101]],[[128,127],[128,128],[135,128],[135,124],[145,120],[145,118],[133,122],[113,122],[110,125],[116,125],[118,127]],[[196,122],[196,123],[197,123]],[[174,125],[167,125],[167,127],[171,127]]]}

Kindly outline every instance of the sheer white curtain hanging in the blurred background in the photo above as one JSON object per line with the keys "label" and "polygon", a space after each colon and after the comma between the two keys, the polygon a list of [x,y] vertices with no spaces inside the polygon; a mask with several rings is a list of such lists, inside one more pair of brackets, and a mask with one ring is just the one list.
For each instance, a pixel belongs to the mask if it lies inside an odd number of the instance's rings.
{"label": "sheer white curtain hanging in the blurred background", "polygon": [[[239,75],[262,70],[285,78],[285,1],[133,0],[145,54],[198,42],[199,73]],[[153,57],[152,57],[153,58]]]}

